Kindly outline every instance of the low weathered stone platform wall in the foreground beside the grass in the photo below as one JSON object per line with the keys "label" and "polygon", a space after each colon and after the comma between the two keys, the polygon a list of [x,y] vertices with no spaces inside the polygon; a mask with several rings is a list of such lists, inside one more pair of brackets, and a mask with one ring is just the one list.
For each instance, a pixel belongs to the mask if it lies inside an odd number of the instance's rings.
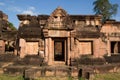
{"label": "low weathered stone platform wall in the foreground beside the grass", "polygon": [[95,74],[120,72],[120,64],[106,64],[94,66],[79,67],[26,67],[26,66],[9,66],[4,68],[4,73],[10,75],[23,75],[25,79],[37,79],[39,77],[72,77],[85,78],[93,80]]}

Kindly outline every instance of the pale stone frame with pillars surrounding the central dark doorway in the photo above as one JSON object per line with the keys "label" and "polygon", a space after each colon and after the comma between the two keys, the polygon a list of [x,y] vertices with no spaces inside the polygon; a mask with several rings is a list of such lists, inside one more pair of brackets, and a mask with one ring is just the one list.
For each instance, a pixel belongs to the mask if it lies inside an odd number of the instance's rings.
{"label": "pale stone frame with pillars surrounding the central dark doorway", "polygon": [[[54,61],[54,40],[65,40],[65,61]],[[45,38],[45,61],[48,65],[54,65],[55,63],[62,63],[65,65],[70,64],[70,38],[69,37],[49,37]]]}

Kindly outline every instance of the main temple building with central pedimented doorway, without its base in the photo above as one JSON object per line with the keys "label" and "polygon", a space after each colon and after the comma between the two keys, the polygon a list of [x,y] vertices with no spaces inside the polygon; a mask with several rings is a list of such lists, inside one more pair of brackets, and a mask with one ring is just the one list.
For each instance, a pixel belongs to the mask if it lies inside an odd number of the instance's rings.
{"label": "main temple building with central pedimented doorway, without its base", "polygon": [[15,54],[41,55],[49,65],[69,65],[80,55],[120,53],[120,22],[101,23],[100,15],[70,15],[58,7],[50,15],[18,15]]}

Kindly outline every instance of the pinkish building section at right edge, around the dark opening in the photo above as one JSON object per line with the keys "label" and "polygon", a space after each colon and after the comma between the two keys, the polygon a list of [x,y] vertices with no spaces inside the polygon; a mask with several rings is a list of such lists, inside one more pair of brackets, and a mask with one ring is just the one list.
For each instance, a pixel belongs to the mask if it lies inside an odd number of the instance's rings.
{"label": "pinkish building section at right edge, around the dark opening", "polygon": [[[118,54],[119,52],[113,52],[112,48],[116,46],[112,45],[112,42],[119,42],[120,41],[120,22],[111,20],[106,21],[105,24],[101,28],[101,33],[104,33],[102,40],[106,43],[106,51],[107,54],[110,56],[112,54]],[[116,48],[119,49],[119,46]]]}

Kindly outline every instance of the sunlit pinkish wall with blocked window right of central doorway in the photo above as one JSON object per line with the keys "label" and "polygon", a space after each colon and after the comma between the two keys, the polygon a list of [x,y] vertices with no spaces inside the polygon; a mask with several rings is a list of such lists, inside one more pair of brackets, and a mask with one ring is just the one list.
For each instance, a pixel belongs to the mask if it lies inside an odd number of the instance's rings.
{"label": "sunlit pinkish wall with blocked window right of central doorway", "polygon": [[106,52],[106,43],[98,39],[75,39],[75,56],[93,55],[93,57],[103,57]]}

